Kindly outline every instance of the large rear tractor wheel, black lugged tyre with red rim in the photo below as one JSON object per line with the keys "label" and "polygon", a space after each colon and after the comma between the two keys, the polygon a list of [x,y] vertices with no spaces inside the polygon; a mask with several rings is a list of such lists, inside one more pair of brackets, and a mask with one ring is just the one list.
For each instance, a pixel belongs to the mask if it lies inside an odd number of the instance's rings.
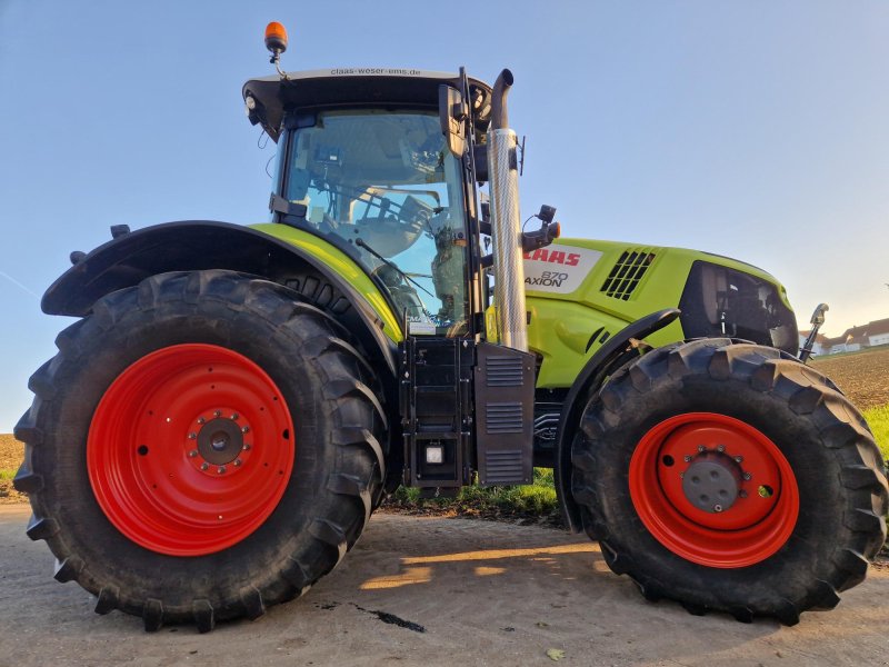
{"label": "large rear tractor wheel, black lugged tyre with red rim", "polygon": [[229,271],[100,299],[31,378],[16,428],[28,535],[100,614],[256,618],[330,571],[386,476],[386,416],[348,334]]}

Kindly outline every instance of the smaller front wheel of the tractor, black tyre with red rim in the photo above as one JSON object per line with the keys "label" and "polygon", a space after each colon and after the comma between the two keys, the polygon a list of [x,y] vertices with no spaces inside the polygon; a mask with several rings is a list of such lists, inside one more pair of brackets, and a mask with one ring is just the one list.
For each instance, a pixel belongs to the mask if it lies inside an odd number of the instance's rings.
{"label": "smaller front wheel of the tractor, black tyre with red rim", "polygon": [[592,397],[572,447],[586,531],[649,599],[796,624],[860,583],[887,480],[861,415],[772,348],[653,350]]}

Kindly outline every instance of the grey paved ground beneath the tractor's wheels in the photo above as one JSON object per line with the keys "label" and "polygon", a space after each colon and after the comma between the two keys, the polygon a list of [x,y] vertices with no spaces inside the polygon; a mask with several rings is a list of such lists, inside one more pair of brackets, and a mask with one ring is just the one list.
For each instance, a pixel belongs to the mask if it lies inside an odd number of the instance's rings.
{"label": "grey paved ground beneath the tractor's wheels", "polygon": [[650,604],[580,536],[527,526],[377,515],[340,567],[263,618],[142,631],[92,613],[52,579],[24,537],[23,506],[0,507],[0,666],[562,665],[757,667],[889,665],[889,569],[792,628]]}

